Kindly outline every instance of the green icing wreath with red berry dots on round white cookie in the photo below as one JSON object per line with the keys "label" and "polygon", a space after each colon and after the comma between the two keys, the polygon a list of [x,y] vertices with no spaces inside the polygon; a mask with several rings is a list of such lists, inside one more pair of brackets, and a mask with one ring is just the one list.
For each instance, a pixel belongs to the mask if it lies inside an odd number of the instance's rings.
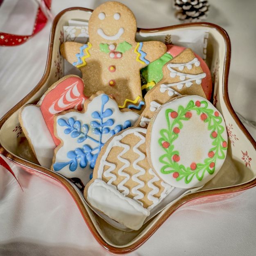
{"label": "green icing wreath with red berry dots on round white cookie", "polygon": [[[165,154],[160,156],[159,161],[163,163],[161,173],[170,174],[180,181],[184,179],[186,184],[190,183],[194,177],[201,181],[205,172],[213,174],[215,171],[215,163],[217,159],[225,158],[225,150],[227,150],[227,142],[222,137],[224,127],[221,125],[222,118],[217,111],[209,109],[206,101],[190,100],[188,105],[179,106],[178,111],[167,109],[165,111],[165,118],[167,120],[168,129],[161,129],[159,145],[165,151]],[[193,112],[191,112],[193,111]],[[211,131],[210,138],[213,140],[213,147],[208,152],[208,158],[204,159],[203,163],[192,163],[189,167],[179,164],[179,152],[174,149],[172,143],[179,136],[179,131],[183,127],[183,122],[188,121],[192,113],[197,113],[203,122],[208,123],[208,131]],[[172,122],[170,122],[172,120]]]}

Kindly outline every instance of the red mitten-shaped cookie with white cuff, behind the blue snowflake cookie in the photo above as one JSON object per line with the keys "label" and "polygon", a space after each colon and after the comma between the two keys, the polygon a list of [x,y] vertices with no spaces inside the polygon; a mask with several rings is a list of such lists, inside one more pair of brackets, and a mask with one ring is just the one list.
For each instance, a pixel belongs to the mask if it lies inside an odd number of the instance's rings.
{"label": "red mitten-shaped cookie with white cuff, behind the blue snowflake cookie", "polygon": [[81,111],[86,99],[83,91],[83,80],[69,75],[54,83],[37,105],[29,104],[20,110],[20,125],[43,167],[50,169],[54,148],[59,144],[53,132],[54,114],[71,108]]}

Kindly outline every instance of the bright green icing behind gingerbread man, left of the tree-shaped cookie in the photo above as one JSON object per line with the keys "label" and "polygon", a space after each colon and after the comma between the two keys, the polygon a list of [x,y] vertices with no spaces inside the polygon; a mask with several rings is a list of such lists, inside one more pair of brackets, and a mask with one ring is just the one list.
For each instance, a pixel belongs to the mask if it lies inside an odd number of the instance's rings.
{"label": "bright green icing behind gingerbread man, left of the tree-shaped cookie", "polygon": [[158,83],[163,78],[163,66],[165,63],[173,59],[172,55],[165,52],[162,57],[148,64],[145,68],[141,69],[140,72],[147,83],[155,82]]}

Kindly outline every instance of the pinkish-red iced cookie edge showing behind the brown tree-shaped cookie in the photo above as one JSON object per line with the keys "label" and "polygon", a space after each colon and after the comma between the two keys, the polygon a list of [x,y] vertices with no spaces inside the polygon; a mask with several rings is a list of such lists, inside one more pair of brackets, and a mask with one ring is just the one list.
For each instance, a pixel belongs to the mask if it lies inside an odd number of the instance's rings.
{"label": "pinkish-red iced cookie edge showing behind the brown tree-shaped cookie", "polygon": [[[178,54],[183,52],[186,48],[178,45],[166,45],[167,46],[167,52],[172,55],[172,57],[176,57]],[[212,93],[212,80],[211,80],[211,72],[206,65],[205,61],[196,53],[195,57],[200,61],[200,65],[202,70],[206,73],[206,77],[202,79],[202,88],[204,90],[204,93],[206,95],[207,100],[211,99],[211,93]]]}

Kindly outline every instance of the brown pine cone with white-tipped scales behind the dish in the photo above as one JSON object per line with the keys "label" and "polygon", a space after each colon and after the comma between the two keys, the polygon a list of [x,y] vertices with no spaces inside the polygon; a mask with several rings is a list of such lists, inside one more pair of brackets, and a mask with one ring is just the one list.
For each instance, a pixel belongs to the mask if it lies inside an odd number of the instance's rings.
{"label": "brown pine cone with white-tipped scales behind the dish", "polygon": [[185,22],[197,22],[206,19],[209,10],[207,0],[174,0],[176,18]]}

